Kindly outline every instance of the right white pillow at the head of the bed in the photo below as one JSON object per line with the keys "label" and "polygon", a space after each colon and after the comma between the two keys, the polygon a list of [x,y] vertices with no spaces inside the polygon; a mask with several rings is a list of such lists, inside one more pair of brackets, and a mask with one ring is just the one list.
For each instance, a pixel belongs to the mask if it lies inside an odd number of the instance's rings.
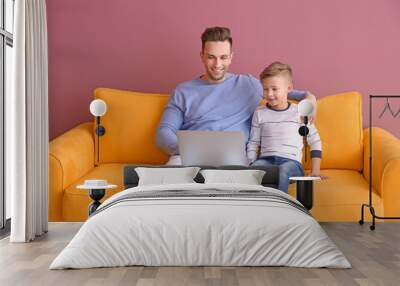
{"label": "right white pillow at the head of the bed", "polygon": [[205,183],[261,185],[265,171],[262,170],[202,170]]}

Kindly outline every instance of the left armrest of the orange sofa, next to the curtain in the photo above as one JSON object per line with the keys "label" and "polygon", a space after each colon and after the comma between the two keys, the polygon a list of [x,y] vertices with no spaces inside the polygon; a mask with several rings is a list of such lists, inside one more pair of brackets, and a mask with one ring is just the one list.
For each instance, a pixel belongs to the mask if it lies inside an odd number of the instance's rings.
{"label": "left armrest of the orange sofa, next to the curtain", "polygon": [[72,128],[49,145],[49,220],[62,218],[63,191],[94,168],[93,123]]}

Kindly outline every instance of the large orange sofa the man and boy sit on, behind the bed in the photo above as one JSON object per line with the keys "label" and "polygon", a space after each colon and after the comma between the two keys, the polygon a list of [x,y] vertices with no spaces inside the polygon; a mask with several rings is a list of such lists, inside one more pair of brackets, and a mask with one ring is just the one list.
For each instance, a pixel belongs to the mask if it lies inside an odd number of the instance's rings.
{"label": "large orange sofa the man and boy sit on, behind the bed", "polygon": [[[85,179],[107,179],[123,189],[126,164],[163,164],[167,160],[155,144],[156,128],[168,95],[96,89],[95,98],[108,106],[101,118],[106,129],[97,140],[94,124],[80,124],[50,142],[49,219],[84,221],[91,202]],[[314,185],[313,216],[319,221],[358,221],[360,206],[368,202],[369,141],[362,128],[361,95],[348,92],[318,100],[317,128],[323,144],[322,173],[328,180]],[[387,131],[373,129],[373,203],[378,215],[400,215],[400,141]],[[309,161],[309,160],[308,160]],[[309,168],[309,162],[305,163]],[[289,193],[295,196],[295,185]],[[367,220],[370,219],[367,212]]]}

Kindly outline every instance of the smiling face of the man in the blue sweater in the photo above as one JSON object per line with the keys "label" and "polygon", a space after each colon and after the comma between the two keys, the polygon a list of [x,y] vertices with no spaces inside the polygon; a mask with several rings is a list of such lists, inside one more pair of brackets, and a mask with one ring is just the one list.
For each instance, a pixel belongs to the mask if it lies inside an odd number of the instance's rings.
{"label": "smiling face of the man in the blue sweater", "polygon": [[224,81],[233,56],[229,41],[206,42],[200,56],[206,70],[204,79],[210,82]]}

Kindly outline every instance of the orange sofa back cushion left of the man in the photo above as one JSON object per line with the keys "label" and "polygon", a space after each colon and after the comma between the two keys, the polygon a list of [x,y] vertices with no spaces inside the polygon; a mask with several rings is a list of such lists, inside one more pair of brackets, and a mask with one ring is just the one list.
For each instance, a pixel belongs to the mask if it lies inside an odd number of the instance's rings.
{"label": "orange sofa back cushion left of the man", "polygon": [[[106,133],[99,138],[99,163],[167,161],[168,156],[155,142],[168,95],[98,88],[94,96],[107,103],[107,112],[101,117]],[[95,142],[97,157],[97,139]]]}

